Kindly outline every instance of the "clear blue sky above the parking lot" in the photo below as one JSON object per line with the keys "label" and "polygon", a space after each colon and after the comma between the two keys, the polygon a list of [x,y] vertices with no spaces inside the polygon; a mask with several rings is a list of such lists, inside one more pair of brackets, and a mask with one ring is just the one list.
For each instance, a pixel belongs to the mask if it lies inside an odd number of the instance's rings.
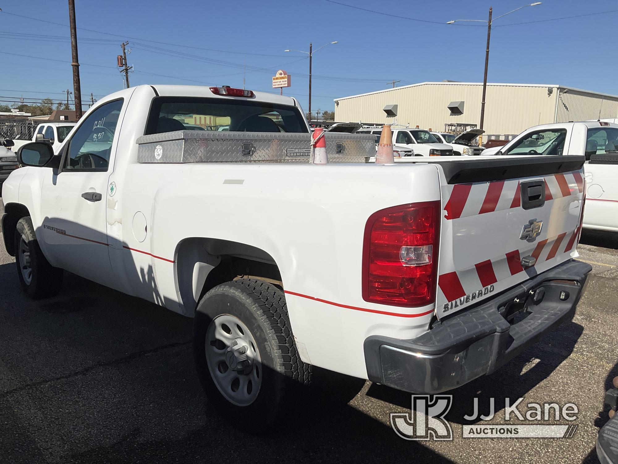
{"label": "clear blue sky above the parking lot", "polygon": [[[527,1],[494,1],[494,17]],[[298,98],[305,110],[308,59],[284,49],[308,50],[310,41],[314,49],[339,41],[313,56],[314,111],[332,110],[336,97],[392,87],[392,80],[482,81],[486,28],[444,23],[486,19],[491,2],[337,2],[75,0],[82,98],[123,88],[116,68],[123,40],[130,42],[128,61],[136,71],[132,86],[242,87],[245,77],[247,88],[273,92],[271,76],[285,69],[292,87],[284,94]],[[0,7],[8,13],[0,13],[0,100],[61,99],[62,90],[72,90],[67,1],[3,0]],[[590,15],[596,12],[606,13]],[[616,0],[546,0],[496,20],[489,82],[561,84],[617,95],[617,21]]]}

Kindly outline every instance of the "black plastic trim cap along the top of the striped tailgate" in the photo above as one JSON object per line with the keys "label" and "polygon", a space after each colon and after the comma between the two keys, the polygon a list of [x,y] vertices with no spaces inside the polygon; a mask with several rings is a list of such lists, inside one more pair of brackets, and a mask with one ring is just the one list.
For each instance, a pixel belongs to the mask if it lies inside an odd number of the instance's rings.
{"label": "black plastic trim cap along the top of the striped tailgate", "polygon": [[441,165],[447,184],[468,184],[568,173],[580,170],[586,158],[583,155],[522,156],[517,158],[497,156],[496,159],[491,160],[465,157],[463,160],[436,159],[423,161]]}

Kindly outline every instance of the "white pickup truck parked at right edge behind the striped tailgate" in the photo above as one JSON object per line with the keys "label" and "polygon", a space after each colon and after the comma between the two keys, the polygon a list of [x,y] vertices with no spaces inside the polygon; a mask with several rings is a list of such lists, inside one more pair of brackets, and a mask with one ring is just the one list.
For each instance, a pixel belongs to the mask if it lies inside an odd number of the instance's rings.
{"label": "white pickup truck parked at right edge behind the striped tailgate", "polygon": [[583,226],[618,231],[618,124],[609,121],[557,122],[530,127],[504,147],[488,148],[481,154],[585,155]]}

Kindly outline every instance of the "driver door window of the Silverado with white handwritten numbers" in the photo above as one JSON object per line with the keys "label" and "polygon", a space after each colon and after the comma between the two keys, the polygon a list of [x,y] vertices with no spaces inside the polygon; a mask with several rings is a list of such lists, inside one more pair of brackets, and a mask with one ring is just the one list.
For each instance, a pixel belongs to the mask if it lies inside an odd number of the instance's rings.
{"label": "driver door window of the Silverado with white handwritten numbers", "polygon": [[104,172],[109,167],[112,143],[122,100],[110,101],[90,113],[69,141],[63,170]]}

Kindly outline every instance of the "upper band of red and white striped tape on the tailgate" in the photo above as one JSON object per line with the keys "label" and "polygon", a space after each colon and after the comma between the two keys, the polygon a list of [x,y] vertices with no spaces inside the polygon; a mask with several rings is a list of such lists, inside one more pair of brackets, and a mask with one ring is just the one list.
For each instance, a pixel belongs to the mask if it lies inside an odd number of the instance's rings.
{"label": "upper band of red and white striped tape on the tailgate", "polygon": [[[583,192],[583,178],[580,171],[543,176],[545,181],[545,201],[576,195]],[[448,220],[478,214],[491,213],[522,204],[519,180],[492,181],[475,184],[455,184],[446,186],[444,205]]]}

